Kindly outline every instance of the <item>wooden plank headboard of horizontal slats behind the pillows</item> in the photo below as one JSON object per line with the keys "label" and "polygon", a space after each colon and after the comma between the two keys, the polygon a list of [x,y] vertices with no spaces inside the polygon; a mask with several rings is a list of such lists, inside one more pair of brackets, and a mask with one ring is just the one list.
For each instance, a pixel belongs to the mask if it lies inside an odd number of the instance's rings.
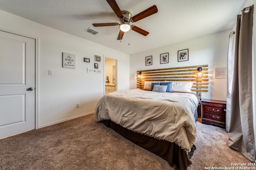
{"label": "wooden plank headboard of horizontal slats behind the pillows", "polygon": [[[202,67],[202,78],[197,78],[198,67]],[[137,78],[137,88],[144,88],[144,81],[190,81],[193,82],[192,91],[208,92],[208,65],[184,66],[175,68],[161,68],[154,70],[139,70],[143,78]]]}

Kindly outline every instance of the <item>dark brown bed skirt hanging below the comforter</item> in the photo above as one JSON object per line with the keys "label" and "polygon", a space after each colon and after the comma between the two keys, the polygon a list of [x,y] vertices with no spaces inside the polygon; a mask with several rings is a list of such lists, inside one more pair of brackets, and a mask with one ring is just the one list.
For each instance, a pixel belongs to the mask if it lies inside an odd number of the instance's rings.
{"label": "dark brown bed skirt hanging below the comforter", "polygon": [[191,152],[187,154],[185,150],[175,143],[136,133],[114,123],[111,120],[103,120],[101,122],[104,123],[106,127],[110,127],[129,141],[132,141],[136,145],[160,156],[166,160],[170,166],[176,167],[177,170],[186,170],[188,165],[192,163],[190,158],[196,149],[194,146],[192,147]]}

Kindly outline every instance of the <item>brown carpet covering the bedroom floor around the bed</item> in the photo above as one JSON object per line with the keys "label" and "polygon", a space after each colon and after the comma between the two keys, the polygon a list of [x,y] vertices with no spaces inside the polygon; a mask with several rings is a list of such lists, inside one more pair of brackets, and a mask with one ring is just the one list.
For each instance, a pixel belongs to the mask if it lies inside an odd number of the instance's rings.
{"label": "brown carpet covering the bedroom floor around the bed", "polygon": [[[227,143],[223,129],[198,123],[188,169],[249,162]],[[0,170],[144,169],[174,170],[162,158],[97,123],[94,114],[0,140]]]}

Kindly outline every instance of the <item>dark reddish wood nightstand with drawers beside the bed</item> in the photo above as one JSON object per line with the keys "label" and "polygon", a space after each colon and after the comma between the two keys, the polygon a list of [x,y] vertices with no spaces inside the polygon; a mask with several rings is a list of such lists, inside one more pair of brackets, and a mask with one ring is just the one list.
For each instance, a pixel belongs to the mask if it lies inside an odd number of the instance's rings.
{"label": "dark reddish wood nightstand with drawers beside the bed", "polygon": [[226,102],[202,99],[202,123],[226,128]]}

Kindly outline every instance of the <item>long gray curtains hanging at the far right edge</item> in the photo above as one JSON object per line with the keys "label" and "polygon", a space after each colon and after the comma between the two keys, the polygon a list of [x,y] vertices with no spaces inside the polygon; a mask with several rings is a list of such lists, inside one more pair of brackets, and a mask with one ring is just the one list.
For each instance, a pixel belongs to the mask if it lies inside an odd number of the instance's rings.
{"label": "long gray curtains hanging at the far right edge", "polygon": [[[252,109],[252,25],[253,6],[244,8],[237,16],[234,61],[228,58],[226,130],[228,145],[241,152],[251,162],[255,161],[254,122]],[[233,36],[230,36],[233,37]],[[230,42],[231,43],[231,42]],[[228,51],[231,56],[232,52]],[[233,65],[233,70],[230,69]],[[231,66],[232,68],[232,66]],[[232,72],[232,73],[229,73]]]}

